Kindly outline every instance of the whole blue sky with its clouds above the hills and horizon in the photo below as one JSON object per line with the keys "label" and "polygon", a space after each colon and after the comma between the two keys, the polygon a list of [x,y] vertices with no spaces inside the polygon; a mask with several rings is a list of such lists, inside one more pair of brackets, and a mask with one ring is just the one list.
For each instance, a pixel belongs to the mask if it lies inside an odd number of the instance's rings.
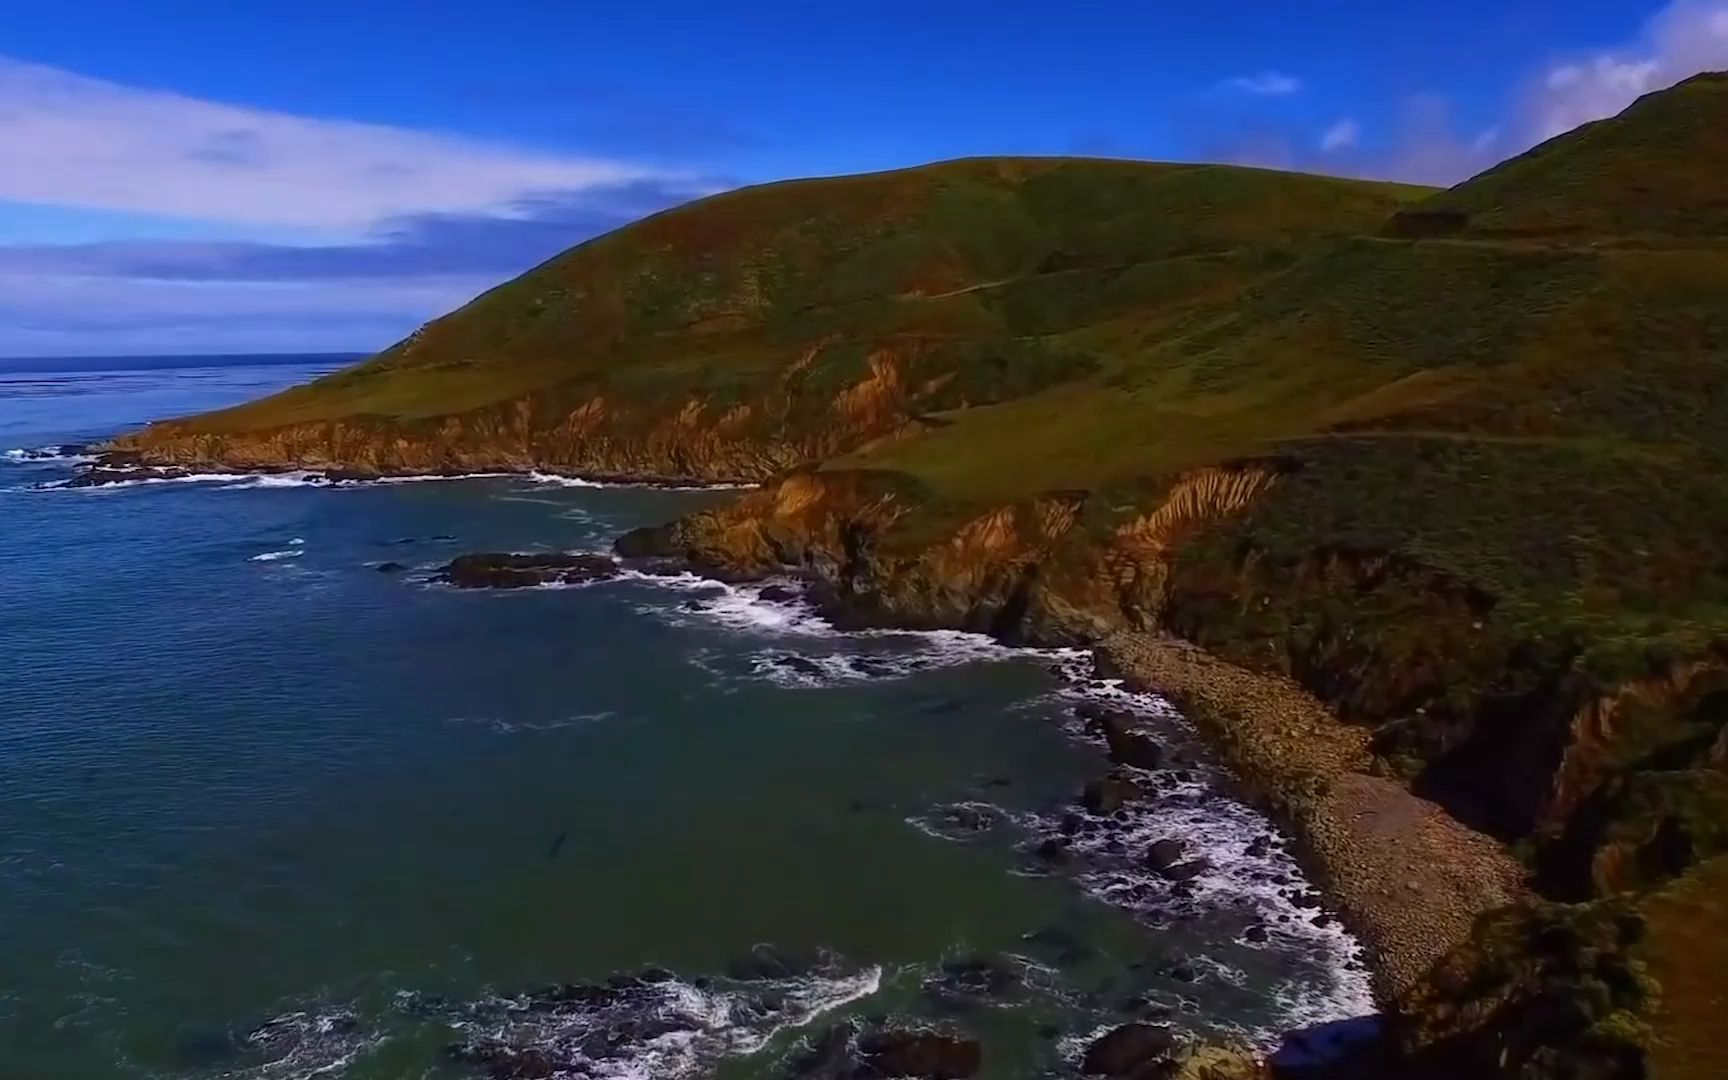
{"label": "whole blue sky with its clouds above the hills and horizon", "polygon": [[0,356],[375,349],[662,206],[968,154],[1450,183],[1706,67],[1728,0],[28,5]]}

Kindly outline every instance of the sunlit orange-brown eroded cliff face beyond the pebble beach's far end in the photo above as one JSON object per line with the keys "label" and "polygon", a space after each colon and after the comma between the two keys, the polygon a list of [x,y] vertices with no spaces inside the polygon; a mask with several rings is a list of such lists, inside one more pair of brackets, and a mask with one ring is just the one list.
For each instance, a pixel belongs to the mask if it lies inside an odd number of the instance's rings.
{"label": "sunlit orange-brown eroded cliff face beyond the pebble beach's far end", "polygon": [[916,494],[893,477],[810,470],[626,546],[689,556],[727,575],[807,574],[843,626],[1073,645],[1153,626],[1168,551],[1246,506],[1277,475],[1277,463],[1263,461],[1194,470],[1111,532],[1083,525],[1087,492],[1051,492],[907,543],[900,525],[914,515]]}

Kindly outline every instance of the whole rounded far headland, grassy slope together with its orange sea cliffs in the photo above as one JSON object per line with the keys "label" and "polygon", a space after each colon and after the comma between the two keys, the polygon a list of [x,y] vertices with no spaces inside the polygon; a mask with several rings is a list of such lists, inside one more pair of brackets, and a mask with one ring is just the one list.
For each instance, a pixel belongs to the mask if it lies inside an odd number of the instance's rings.
{"label": "whole rounded far headland, grassy slope together with its orange sea cliffs", "polygon": [[745,188],[591,240],[377,358],[137,446],[199,463],[762,479],[1113,365],[1420,188],[956,161]]}

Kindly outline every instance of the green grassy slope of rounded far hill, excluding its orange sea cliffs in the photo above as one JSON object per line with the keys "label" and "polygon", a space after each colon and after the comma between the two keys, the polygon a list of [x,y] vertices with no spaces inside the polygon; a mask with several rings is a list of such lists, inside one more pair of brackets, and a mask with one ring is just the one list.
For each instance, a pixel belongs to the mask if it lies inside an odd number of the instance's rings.
{"label": "green grassy slope of rounded far hill, excluding its orange sea cliffs", "polygon": [[[1096,372],[1078,327],[1156,318],[1230,290],[1293,245],[1375,228],[1422,188],[1229,166],[973,159],[743,188],[575,247],[372,361],[200,420],[259,429],[356,413],[422,418],[522,394],[555,410],[607,394],[641,416],[695,394],[779,394],[810,416],[916,353],[976,404]],[[797,413],[797,410],[793,410]]]}

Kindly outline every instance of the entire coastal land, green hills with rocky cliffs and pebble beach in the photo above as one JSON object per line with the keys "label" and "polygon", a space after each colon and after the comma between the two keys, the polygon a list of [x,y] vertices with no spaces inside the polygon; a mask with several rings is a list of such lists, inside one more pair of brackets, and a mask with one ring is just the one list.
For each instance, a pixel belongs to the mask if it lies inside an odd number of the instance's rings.
{"label": "entire coastal land, green hills with rocky cliffs and pebble beach", "polygon": [[[1674,897],[1728,852],[1723,130],[1699,76],[1438,194],[1064,159],[748,188],[111,451],[757,484],[619,553],[1106,645],[1303,838],[1400,1068],[1640,1077],[1709,1042],[1652,942],[1721,916]],[[1388,900],[1407,842],[1457,873]]]}

